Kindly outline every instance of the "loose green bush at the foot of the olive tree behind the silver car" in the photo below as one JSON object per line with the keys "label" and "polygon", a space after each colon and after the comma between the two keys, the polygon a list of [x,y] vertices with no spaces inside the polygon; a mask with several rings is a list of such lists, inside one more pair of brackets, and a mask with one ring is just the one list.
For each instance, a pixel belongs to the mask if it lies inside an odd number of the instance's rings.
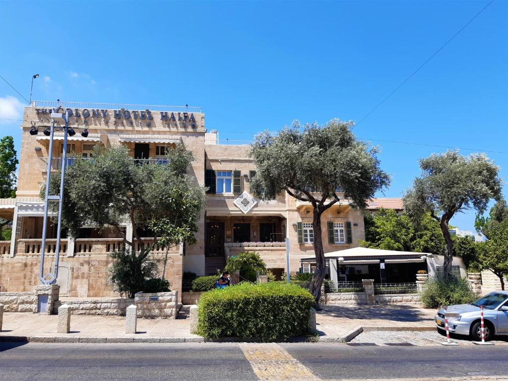
{"label": "loose green bush at the foot of the olive tree behind the silver car", "polygon": [[466,279],[447,280],[439,276],[425,282],[420,298],[426,308],[438,308],[471,303],[477,296],[469,289]]}

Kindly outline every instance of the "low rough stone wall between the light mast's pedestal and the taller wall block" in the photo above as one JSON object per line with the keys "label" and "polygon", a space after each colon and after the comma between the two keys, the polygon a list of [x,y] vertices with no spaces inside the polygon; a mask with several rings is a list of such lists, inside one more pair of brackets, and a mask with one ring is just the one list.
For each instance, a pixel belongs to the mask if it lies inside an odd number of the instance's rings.
{"label": "low rough stone wall between the light mast's pedestal and the taller wall block", "polygon": [[134,303],[134,299],[84,299],[59,300],[53,306],[53,313],[58,313],[58,307],[67,304],[73,315],[113,315],[125,316],[126,308]]}

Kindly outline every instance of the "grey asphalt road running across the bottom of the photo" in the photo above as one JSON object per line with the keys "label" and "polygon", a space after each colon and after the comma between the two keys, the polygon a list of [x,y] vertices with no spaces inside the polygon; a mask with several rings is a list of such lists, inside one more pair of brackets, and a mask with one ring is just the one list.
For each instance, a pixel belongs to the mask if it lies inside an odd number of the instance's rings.
{"label": "grey asphalt road running across the bottom of the photo", "polygon": [[[506,346],[248,345],[0,343],[0,380],[275,380],[284,375],[262,373],[282,363],[306,367],[314,379],[508,376]],[[245,354],[258,346],[249,362]]]}

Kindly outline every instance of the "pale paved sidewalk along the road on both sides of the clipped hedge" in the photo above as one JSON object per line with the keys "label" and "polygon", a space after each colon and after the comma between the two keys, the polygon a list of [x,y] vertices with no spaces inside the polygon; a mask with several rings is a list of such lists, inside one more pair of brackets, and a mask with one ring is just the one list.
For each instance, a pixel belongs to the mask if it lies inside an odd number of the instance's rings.
{"label": "pale paved sidewalk along the road on both sides of the clipped hedge", "polygon": [[[432,329],[435,311],[414,306],[324,306],[316,312],[320,341],[344,342],[361,332]],[[2,336],[39,342],[199,342],[189,319],[138,319],[138,333],[125,334],[125,316],[71,315],[71,333],[56,333],[57,315],[5,312]]]}

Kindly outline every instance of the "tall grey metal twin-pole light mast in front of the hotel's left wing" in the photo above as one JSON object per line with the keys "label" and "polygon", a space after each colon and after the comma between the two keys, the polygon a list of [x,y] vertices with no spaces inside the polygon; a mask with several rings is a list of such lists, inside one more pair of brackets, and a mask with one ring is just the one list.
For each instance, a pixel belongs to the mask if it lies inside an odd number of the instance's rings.
{"label": "tall grey metal twin-pole light mast in front of the hotel's left wing", "polygon": [[[42,228],[42,248],[41,248],[41,267],[39,270],[39,277],[42,284],[55,284],[58,276],[58,259],[60,253],[60,233],[61,233],[61,212],[62,212],[62,201],[63,201],[63,181],[65,180],[65,169],[67,165],[67,136],[69,132],[69,111],[65,114],[61,113],[61,110],[65,110],[62,106],[57,106],[51,113],[51,134],[49,137],[49,152],[48,152],[48,169],[46,177],[46,199],[44,204],[44,221]],[[49,185],[51,179],[51,162],[53,159],[53,138],[55,133],[55,122],[65,123],[63,127],[63,152],[62,152],[62,164],[61,164],[61,175],[60,175],[60,191],[59,195],[49,195]],[[48,207],[50,202],[58,202],[58,226],[56,232],[56,244],[55,244],[55,268],[53,274],[48,272],[44,274],[44,254],[46,249],[46,232],[48,225]]]}

